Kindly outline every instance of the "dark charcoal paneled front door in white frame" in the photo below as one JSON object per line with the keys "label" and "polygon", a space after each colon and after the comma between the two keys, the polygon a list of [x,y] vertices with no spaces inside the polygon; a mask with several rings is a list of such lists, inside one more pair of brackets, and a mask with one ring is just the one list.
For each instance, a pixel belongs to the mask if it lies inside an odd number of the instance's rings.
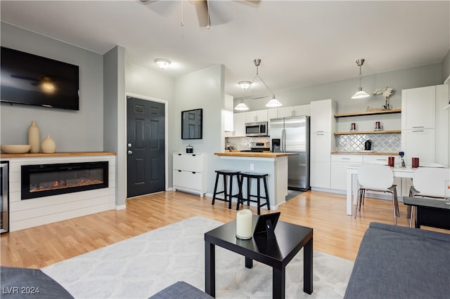
{"label": "dark charcoal paneled front door in white frame", "polygon": [[127,197],[165,190],[165,104],[127,96]]}

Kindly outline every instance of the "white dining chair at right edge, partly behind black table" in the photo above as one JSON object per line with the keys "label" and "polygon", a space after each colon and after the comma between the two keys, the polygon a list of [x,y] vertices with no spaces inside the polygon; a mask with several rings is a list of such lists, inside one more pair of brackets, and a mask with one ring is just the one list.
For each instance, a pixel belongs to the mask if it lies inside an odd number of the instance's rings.
{"label": "white dining chair at right edge, partly behind black table", "polygon": [[[450,180],[449,168],[419,167],[413,175],[410,197],[445,198],[446,180]],[[409,206],[409,227],[413,226],[414,206]]]}

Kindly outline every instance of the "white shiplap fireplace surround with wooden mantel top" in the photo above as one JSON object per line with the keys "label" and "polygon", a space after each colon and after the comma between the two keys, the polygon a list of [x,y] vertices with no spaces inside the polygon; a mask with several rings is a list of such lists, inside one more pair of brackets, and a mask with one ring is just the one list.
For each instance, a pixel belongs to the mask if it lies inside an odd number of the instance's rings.
{"label": "white shiplap fireplace surround with wooden mantel top", "polygon": [[[1,154],[9,161],[9,231],[113,210],[115,208],[115,153]],[[21,199],[21,166],[108,161],[108,187]]]}

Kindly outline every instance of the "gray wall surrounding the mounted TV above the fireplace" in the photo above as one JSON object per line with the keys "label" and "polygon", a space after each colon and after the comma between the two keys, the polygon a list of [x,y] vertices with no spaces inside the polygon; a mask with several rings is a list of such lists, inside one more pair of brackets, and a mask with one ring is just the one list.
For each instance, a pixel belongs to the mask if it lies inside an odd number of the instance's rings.
{"label": "gray wall surrounding the mounted TV above the fireplace", "polygon": [[1,22],[1,46],[79,65],[79,111],[1,103],[1,144],[27,144],[36,120],[57,152],[103,151],[103,56]]}

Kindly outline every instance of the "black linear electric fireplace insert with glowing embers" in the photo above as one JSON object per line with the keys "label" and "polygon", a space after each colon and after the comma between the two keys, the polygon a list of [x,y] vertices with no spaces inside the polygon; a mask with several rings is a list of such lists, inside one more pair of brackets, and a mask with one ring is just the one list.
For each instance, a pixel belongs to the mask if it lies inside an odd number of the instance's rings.
{"label": "black linear electric fireplace insert with glowing embers", "polygon": [[22,199],[108,187],[108,161],[22,166]]}

